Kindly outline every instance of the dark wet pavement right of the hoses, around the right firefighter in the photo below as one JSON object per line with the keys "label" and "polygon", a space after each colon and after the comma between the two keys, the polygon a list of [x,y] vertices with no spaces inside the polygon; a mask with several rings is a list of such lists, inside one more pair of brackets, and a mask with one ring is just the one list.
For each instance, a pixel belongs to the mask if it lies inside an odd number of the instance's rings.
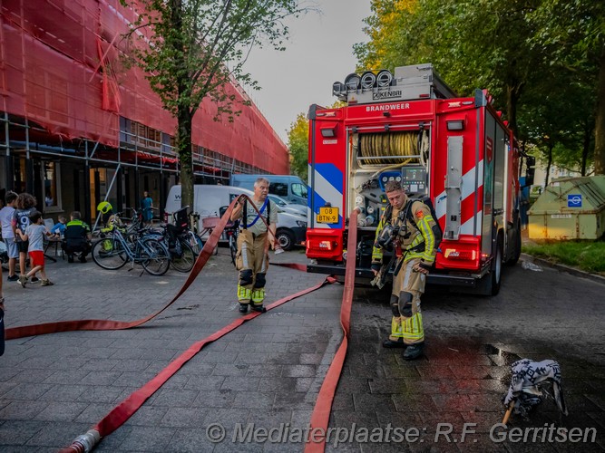
{"label": "dark wet pavement right of the hoses, around the right firefighter", "polygon": [[[405,443],[410,451],[605,450],[605,286],[538,268],[506,269],[503,289],[492,298],[424,294],[425,355],[411,362],[401,351],[381,347],[390,323],[388,294],[376,301],[375,292],[358,289],[330,426],[403,427],[413,438]],[[508,429],[498,425],[510,366],[521,358],[559,361],[569,416],[545,400],[529,418],[513,414]],[[547,430],[558,428],[575,429],[581,441],[561,442]],[[401,445],[380,446],[391,450],[401,451]]]}

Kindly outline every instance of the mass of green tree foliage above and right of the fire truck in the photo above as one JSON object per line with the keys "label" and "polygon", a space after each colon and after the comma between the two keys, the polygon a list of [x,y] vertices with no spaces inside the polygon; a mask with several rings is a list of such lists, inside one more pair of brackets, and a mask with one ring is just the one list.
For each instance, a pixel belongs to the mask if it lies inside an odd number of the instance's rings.
{"label": "mass of green tree foliage above and right of the fire truck", "polygon": [[361,69],[434,63],[462,96],[487,88],[518,137],[542,140],[557,165],[585,174],[594,148],[595,173],[605,168],[605,4],[373,0],[372,9],[371,40],[356,45]]}

